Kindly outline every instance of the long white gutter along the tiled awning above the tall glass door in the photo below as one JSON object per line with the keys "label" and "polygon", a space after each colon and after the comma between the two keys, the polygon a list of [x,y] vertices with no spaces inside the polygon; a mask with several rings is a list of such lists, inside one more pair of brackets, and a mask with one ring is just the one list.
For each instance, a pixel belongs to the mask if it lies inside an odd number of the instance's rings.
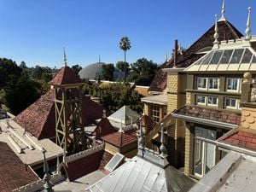
{"label": "long white gutter along the tiled awning above the tall glass door", "polygon": [[211,120],[211,119],[201,119],[201,118],[196,118],[196,117],[191,117],[183,114],[177,114],[177,113],[172,113],[172,117],[176,119],[183,119],[183,120],[189,120],[194,123],[203,123],[207,125],[216,125],[223,127],[225,129],[235,129],[238,125],[235,124],[229,124],[229,123],[224,123],[216,120]]}

